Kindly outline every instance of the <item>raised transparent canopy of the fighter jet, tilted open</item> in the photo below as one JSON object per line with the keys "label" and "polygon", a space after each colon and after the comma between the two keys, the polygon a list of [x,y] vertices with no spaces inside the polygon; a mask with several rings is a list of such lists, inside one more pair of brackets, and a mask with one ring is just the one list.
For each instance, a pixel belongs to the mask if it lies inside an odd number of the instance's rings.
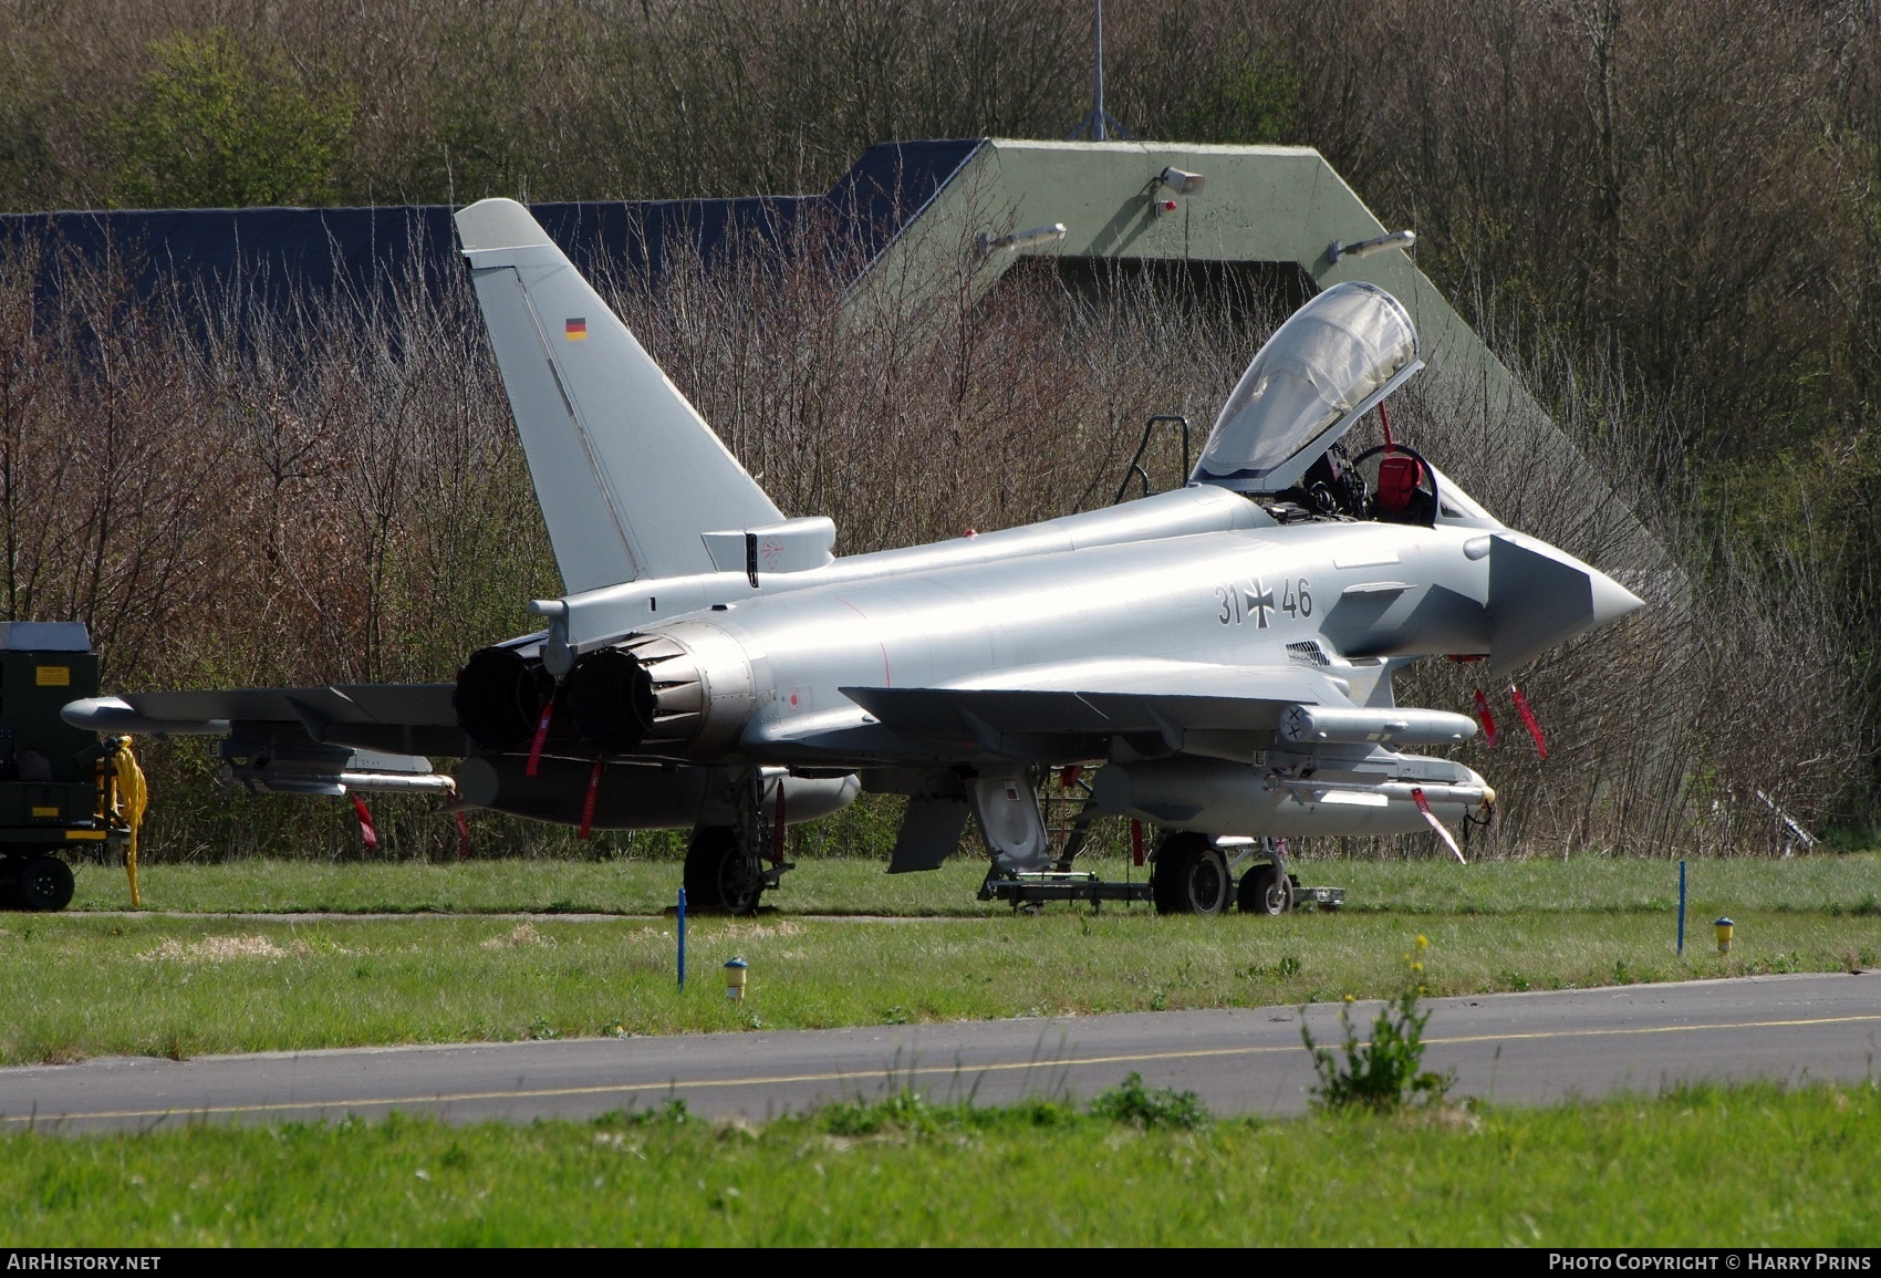
{"label": "raised transparent canopy of the fighter jet, tilted open", "polygon": [[1334,284],[1294,311],[1215,418],[1191,484],[1292,487],[1375,403],[1424,367],[1403,305],[1375,284]]}

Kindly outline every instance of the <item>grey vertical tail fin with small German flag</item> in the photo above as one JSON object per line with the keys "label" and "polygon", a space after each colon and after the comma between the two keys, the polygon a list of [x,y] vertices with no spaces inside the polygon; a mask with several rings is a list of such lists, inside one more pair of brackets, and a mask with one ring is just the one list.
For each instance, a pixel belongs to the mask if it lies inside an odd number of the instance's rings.
{"label": "grey vertical tail fin with small German flag", "polygon": [[523,205],[455,220],[570,593],[711,572],[703,533],[782,519]]}

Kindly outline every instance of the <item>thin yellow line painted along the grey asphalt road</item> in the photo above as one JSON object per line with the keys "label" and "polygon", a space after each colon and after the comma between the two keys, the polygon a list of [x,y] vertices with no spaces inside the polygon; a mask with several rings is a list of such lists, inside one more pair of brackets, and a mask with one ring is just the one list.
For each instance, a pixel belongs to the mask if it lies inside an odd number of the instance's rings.
{"label": "thin yellow line painted along the grey asphalt road", "polygon": [[[1642,1035],[1642,1033],[1697,1033],[1704,1030],[1794,1030],[1800,1026],[1845,1026],[1868,1020],[1881,1020],[1881,1013],[1864,1013],[1857,1016],[1815,1016],[1806,1020],[1731,1020],[1702,1026],[1633,1026],[1621,1030],[1537,1030],[1531,1033],[1475,1033],[1458,1035],[1448,1039],[1424,1039],[1428,1046],[1443,1045],[1462,1045],[1462,1043],[1510,1043],[1510,1041],[1535,1041],[1535,1039],[1599,1039],[1599,1037],[1618,1037],[1618,1035]],[[1027,1062],[997,1062],[991,1065],[909,1065],[905,1069],[892,1069],[893,1075],[989,1075],[1004,1073],[1012,1069],[1072,1069],[1078,1065],[1132,1065],[1144,1062],[1168,1062],[1168,1060],[1208,1060],[1217,1056],[1272,1056],[1279,1052],[1298,1052],[1300,1046],[1287,1045],[1262,1045],[1262,1046],[1204,1046],[1189,1048],[1179,1052],[1127,1052],[1119,1056],[1072,1056],[1065,1060],[1027,1060]],[[875,1071],[869,1071],[873,1075]],[[68,1122],[68,1120],[94,1120],[94,1118],[167,1118],[171,1114],[256,1114],[256,1112],[284,1112],[284,1110],[314,1110],[314,1109],[376,1109],[386,1105],[450,1105],[463,1101],[515,1101],[515,1099],[547,1099],[561,1095],[608,1095],[609,1092],[677,1092],[681,1088],[764,1088],[779,1086],[786,1082],[845,1082],[856,1078],[854,1071],[828,1071],[814,1075],[758,1075],[743,1078],[688,1078],[685,1082],[666,1080],[666,1082],[608,1082],[583,1088],[529,1088],[515,1092],[451,1092],[451,1094],[433,1094],[433,1095],[391,1095],[391,1097],[354,1097],[354,1099],[333,1099],[333,1101],[258,1101],[254,1105],[198,1105],[190,1109],[100,1109],[100,1110],[62,1110],[56,1118],[47,1116],[47,1122]],[[0,1124],[26,1124],[36,1122],[36,1116],[17,1116],[0,1114]]]}

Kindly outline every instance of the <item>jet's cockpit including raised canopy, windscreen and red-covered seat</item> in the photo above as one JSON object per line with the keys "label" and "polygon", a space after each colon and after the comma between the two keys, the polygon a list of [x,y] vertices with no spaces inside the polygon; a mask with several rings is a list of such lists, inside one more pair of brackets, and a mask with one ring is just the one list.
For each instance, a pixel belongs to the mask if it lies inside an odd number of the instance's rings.
{"label": "jet's cockpit including raised canopy, windscreen and red-covered seat", "polygon": [[[1403,303],[1375,284],[1334,284],[1281,324],[1247,365],[1189,482],[1245,493],[1281,523],[1495,527],[1494,516],[1392,435],[1384,399],[1422,367]],[[1343,439],[1373,408],[1384,442],[1351,455]]]}

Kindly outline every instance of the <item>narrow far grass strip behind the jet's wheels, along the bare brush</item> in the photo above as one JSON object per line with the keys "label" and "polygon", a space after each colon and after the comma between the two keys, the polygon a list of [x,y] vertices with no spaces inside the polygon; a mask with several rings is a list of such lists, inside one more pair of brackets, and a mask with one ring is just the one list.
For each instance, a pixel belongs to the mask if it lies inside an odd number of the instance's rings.
{"label": "narrow far grass strip behind the jet's wheels, along the bare brush", "polygon": [[[1083,862],[1080,862],[1083,866]],[[1121,879],[1121,860],[1089,868]],[[784,887],[766,896],[779,913],[988,917],[1004,905],[974,900],[984,860],[956,856],[933,873],[884,873],[878,860],[799,860]],[[1138,879],[1144,870],[1132,871]],[[1351,890],[1349,911],[1501,915],[1529,911],[1667,913],[1678,903],[1678,864],[1576,856],[1573,860],[1315,860],[1305,883]],[[1881,855],[1796,860],[1693,860],[1691,919],[1717,913],[1804,911],[1881,915]],[[158,864],[141,873],[147,909],[231,913],[626,913],[673,905],[675,860],[466,860],[307,862],[237,860]],[[120,870],[79,871],[75,911],[130,907]]]}

